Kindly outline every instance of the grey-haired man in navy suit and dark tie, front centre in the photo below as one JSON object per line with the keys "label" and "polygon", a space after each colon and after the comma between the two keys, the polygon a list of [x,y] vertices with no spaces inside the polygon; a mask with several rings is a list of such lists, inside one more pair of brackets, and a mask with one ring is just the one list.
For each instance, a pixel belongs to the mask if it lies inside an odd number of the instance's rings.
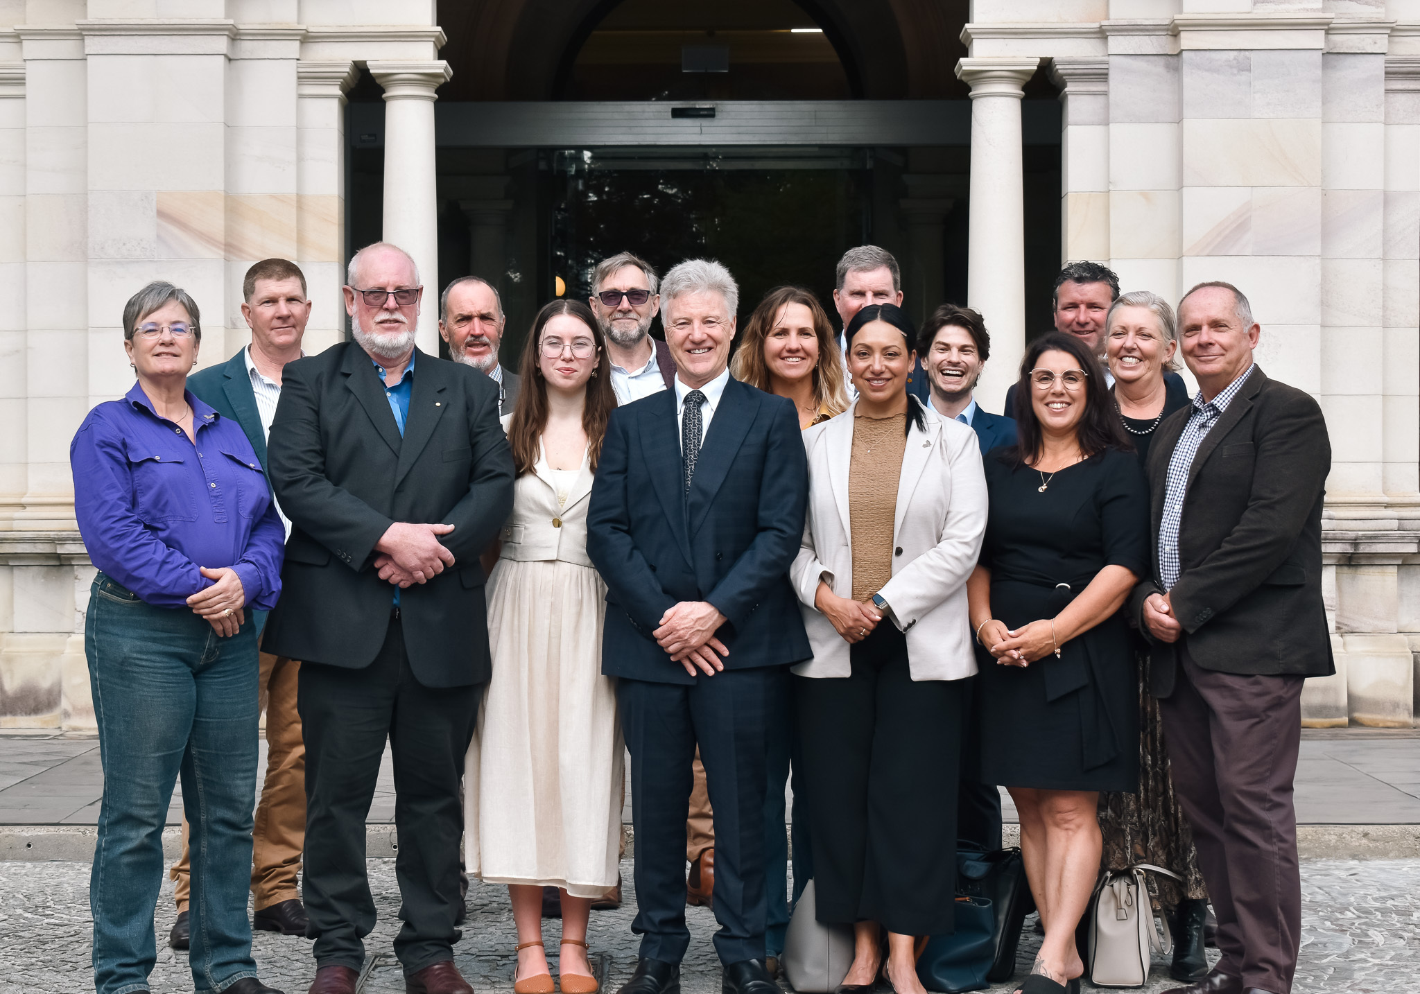
{"label": "grey-haired man in navy suit and dark tie, front centre", "polygon": [[632,930],[643,937],[621,994],[679,990],[697,744],[714,808],[723,988],[778,994],[764,967],[765,728],[785,720],[787,666],[811,655],[787,578],[808,466],[794,405],[730,378],[730,273],[690,260],[660,293],[674,389],[612,412],[586,538],[608,588],[602,673],[619,677],[632,760]]}

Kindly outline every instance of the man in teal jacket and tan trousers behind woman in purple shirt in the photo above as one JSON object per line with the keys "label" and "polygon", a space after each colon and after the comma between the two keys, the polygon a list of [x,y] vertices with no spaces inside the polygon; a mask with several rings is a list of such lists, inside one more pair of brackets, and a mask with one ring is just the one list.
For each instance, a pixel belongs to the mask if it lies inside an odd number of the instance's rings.
{"label": "man in teal jacket and tan trousers behind woman in purple shirt", "polygon": [[[251,328],[251,344],[227,362],[189,376],[187,389],[241,426],[266,473],[267,433],[281,398],[281,371],[287,362],[301,358],[311,301],[305,295],[305,274],[285,258],[263,258],[247,270],[241,293],[241,317]],[[284,514],[281,521],[290,537],[291,523]],[[264,621],[257,619],[258,626]],[[268,751],[253,831],[251,895],[253,927],[304,937],[305,906],[297,890],[305,848],[305,744],[301,716],[295,710],[300,670],[301,663],[295,659],[261,653],[258,687],[266,700]],[[178,922],[168,943],[173,949],[187,949],[186,846],[172,876],[178,880]]]}

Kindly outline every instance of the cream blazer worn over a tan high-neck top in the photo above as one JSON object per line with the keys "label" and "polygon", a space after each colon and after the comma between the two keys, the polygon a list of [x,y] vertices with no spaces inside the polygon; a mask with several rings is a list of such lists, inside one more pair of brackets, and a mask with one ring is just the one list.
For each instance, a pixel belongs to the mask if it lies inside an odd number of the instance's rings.
{"label": "cream blazer worn over a tan high-neck top", "polygon": [[[917,403],[916,399],[909,400]],[[790,579],[799,598],[814,659],[798,676],[846,677],[849,645],[815,606],[819,579],[839,596],[853,592],[848,466],[855,402],[804,432],[808,450],[808,515]],[[924,408],[926,432],[912,427],[897,481],[892,579],[879,591],[892,609],[880,623],[907,635],[913,680],[960,680],[977,672],[967,615],[967,577],[985,534],[987,494],[981,449],[968,425]]]}

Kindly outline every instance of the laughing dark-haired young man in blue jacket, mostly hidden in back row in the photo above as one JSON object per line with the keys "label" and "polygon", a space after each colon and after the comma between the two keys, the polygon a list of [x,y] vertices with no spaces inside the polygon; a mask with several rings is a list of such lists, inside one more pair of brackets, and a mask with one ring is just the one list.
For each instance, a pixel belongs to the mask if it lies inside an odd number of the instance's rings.
{"label": "laughing dark-haired young man in blue jacket, mostly hidden in back row", "polygon": [[[973,398],[981,368],[991,358],[991,335],[980,314],[943,304],[917,332],[917,355],[927,371],[932,409],[968,425],[977,433],[983,456],[998,446],[1015,444],[1015,419],[987,413]],[[967,711],[976,713],[970,701]],[[978,849],[1000,849],[1001,791],[977,780],[978,737],[970,726],[966,733],[957,780],[957,839]]]}

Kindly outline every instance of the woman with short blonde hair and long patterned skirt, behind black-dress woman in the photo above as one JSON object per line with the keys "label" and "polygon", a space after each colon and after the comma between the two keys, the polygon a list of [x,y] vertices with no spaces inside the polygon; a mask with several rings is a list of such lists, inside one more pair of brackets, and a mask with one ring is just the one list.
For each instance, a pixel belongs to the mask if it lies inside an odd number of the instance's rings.
{"label": "woman with short blonde hair and long patterned skirt, behind black-dress woman", "polygon": [[[1189,406],[1189,389],[1179,376],[1174,352],[1173,308],[1146,290],[1122,295],[1105,320],[1105,358],[1115,376],[1115,405],[1125,430],[1146,466],[1149,443],[1163,420]],[[1102,868],[1129,869],[1135,863],[1163,866],[1180,880],[1152,873],[1150,889],[1174,923],[1173,963],[1169,976],[1191,983],[1208,973],[1203,930],[1208,889],[1198,869],[1193,832],[1169,775],[1159,701],[1149,693],[1149,643],[1136,640],[1139,656],[1139,791],[1106,791],[1099,795],[1099,828],[1105,851]]]}

